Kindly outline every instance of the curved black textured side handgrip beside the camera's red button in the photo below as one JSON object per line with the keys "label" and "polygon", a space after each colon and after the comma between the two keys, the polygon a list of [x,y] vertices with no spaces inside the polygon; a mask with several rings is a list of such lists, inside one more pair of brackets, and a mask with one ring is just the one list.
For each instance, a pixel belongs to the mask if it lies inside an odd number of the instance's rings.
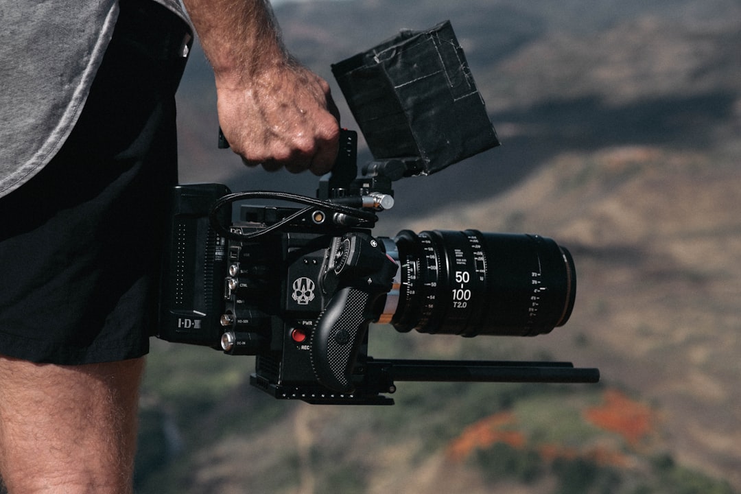
{"label": "curved black textured side handgrip beside the camera's red button", "polygon": [[312,336],[311,365],[317,381],[330,390],[350,393],[354,389],[350,375],[373,319],[373,298],[371,293],[345,287],[319,316]]}

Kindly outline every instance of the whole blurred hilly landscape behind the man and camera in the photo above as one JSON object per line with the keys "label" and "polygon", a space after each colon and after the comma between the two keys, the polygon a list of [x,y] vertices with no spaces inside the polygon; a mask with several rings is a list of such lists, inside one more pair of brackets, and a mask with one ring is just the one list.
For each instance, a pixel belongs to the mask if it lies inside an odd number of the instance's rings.
{"label": "whole blurred hilly landscape behind the man and camera", "polygon": [[[377,235],[540,233],[574,254],[576,307],[548,336],[379,326],[371,355],[574,361],[602,382],[400,383],[394,407],[318,407],[249,387],[252,358],[153,341],[136,492],[741,492],[741,2],[310,1],[276,15],[350,128],[330,64],[452,21],[503,145],[398,182]],[[313,195],[313,176],[216,150],[215,106],[196,50],[183,182]]]}

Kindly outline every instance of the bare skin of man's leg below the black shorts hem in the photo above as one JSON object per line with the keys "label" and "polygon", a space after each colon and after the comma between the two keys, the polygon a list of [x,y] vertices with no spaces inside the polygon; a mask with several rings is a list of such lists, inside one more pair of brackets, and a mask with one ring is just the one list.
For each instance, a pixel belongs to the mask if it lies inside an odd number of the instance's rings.
{"label": "bare skin of man's leg below the black shorts hem", "polygon": [[8,492],[131,493],[144,358],[57,366],[0,357]]}

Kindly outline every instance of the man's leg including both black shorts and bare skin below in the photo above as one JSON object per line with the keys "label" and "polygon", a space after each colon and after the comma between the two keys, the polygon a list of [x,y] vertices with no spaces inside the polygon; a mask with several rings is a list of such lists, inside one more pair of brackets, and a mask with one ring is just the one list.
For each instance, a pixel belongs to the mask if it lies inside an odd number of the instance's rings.
{"label": "man's leg including both black shorts and bare skin below", "polygon": [[0,354],[14,357],[0,357],[0,474],[11,494],[132,490],[186,34],[166,7],[121,1],[75,129],[0,198]]}

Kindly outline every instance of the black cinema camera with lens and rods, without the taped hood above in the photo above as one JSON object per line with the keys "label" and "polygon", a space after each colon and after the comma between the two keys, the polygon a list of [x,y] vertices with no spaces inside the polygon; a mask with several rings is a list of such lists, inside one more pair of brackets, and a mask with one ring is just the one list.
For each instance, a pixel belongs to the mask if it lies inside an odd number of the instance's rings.
{"label": "black cinema camera with lens and rods, without the taped hood above", "polygon": [[243,204],[232,221],[233,201],[296,197],[231,194],[222,184],[173,189],[159,338],[256,356],[253,385],[315,404],[392,404],[385,394],[400,380],[597,381],[597,370],[562,362],[368,356],[377,321],[466,337],[548,333],[571,314],[576,274],[568,250],[540,236],[374,237],[376,215],[363,210],[393,204],[391,180],[350,179],[356,133],[342,136],[319,199],[299,196],[307,207]]}

